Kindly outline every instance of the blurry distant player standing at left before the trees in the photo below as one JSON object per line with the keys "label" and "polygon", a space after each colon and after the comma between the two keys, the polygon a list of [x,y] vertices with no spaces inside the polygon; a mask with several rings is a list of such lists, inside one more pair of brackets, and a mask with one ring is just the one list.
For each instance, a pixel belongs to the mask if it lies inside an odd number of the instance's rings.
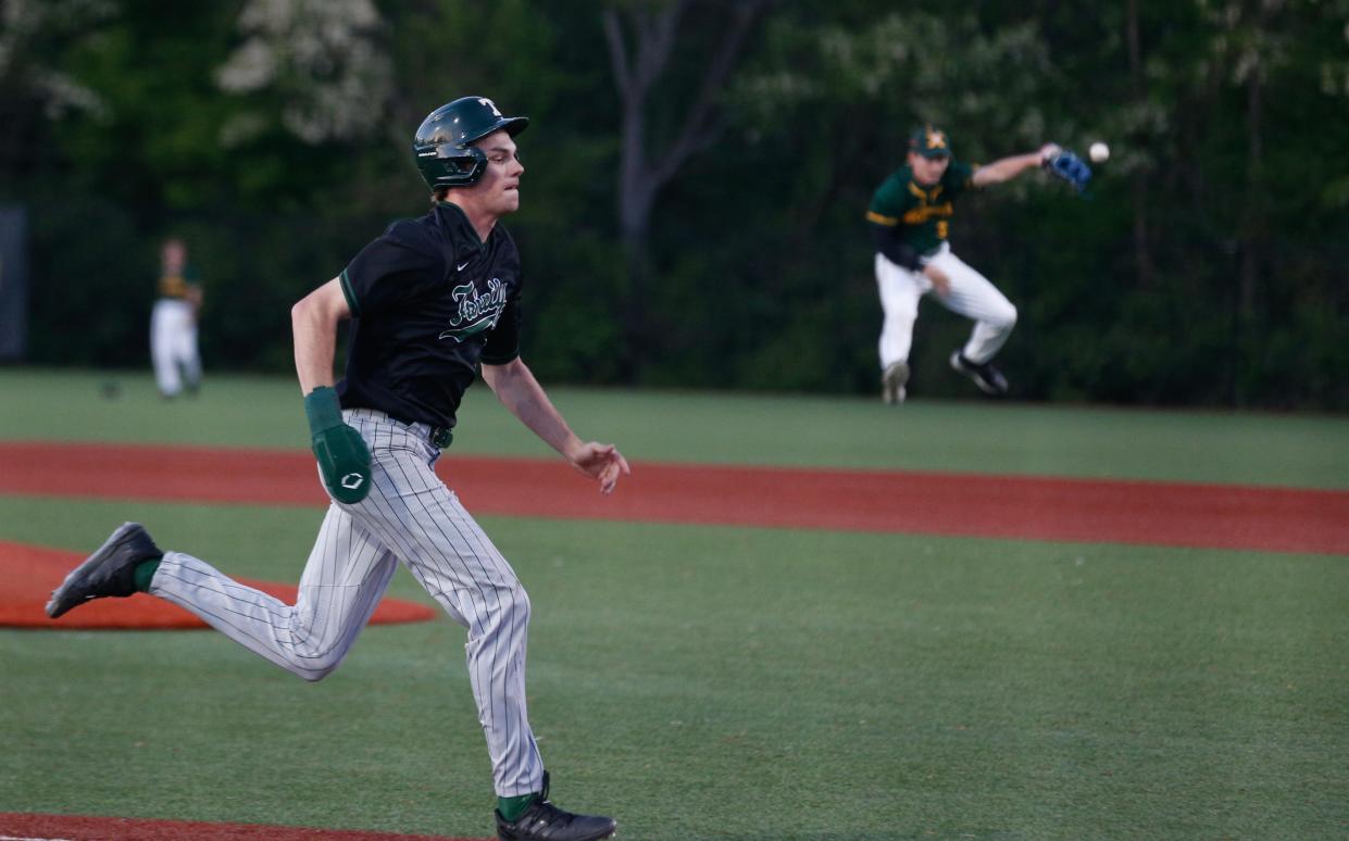
{"label": "blurry distant player standing at left before the trees", "polygon": [[150,359],[165,398],[175,398],[183,388],[196,394],[201,385],[200,309],[201,283],[188,266],[188,247],[179,239],[165,240],[159,249],[159,299],[150,313]]}

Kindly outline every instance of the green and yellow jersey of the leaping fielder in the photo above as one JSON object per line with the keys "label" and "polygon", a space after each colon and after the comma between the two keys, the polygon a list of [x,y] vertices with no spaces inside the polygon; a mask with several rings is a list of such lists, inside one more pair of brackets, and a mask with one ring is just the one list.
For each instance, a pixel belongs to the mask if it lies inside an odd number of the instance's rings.
{"label": "green and yellow jersey of the leaping fielder", "polygon": [[902,166],[871,195],[866,221],[893,228],[901,244],[920,256],[931,255],[950,237],[955,198],[971,189],[975,168],[952,160],[942,181],[924,186],[913,179],[913,170]]}

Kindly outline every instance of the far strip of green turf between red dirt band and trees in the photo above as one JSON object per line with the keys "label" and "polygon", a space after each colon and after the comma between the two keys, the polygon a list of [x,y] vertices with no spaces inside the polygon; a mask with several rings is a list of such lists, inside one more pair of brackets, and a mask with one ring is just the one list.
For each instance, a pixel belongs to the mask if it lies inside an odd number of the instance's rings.
{"label": "far strip of green turf between red dirt band and trees", "polygon": [[[117,383],[115,399],[103,396]],[[1033,473],[1349,488],[1349,418],[862,398],[554,390],[633,461]],[[144,372],[0,371],[0,438],[305,447],[298,385],[212,376],[162,402]],[[482,384],[455,451],[548,456]],[[638,465],[639,466],[639,465]]]}

